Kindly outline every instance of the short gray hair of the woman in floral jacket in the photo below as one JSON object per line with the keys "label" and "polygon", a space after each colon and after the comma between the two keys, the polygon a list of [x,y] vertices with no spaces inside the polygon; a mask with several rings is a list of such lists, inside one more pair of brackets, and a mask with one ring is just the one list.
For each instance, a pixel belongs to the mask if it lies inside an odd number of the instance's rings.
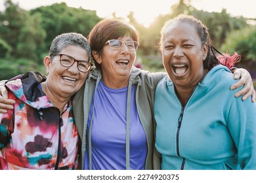
{"label": "short gray hair of the woman in floral jacket", "polygon": [[[60,54],[60,51],[67,46],[80,46],[87,51],[89,60],[91,59],[91,47],[87,39],[80,33],[62,33],[53,40],[49,55],[54,56]],[[52,58],[51,58],[52,59]]]}

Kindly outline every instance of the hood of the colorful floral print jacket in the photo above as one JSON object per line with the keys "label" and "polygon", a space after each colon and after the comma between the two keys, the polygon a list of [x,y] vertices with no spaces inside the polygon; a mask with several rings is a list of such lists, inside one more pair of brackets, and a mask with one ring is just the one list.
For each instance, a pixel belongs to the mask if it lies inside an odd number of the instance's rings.
{"label": "hood of the colorful floral print jacket", "polygon": [[39,85],[46,76],[37,72],[28,72],[9,80],[5,86],[21,101],[33,108],[52,107],[52,103]]}

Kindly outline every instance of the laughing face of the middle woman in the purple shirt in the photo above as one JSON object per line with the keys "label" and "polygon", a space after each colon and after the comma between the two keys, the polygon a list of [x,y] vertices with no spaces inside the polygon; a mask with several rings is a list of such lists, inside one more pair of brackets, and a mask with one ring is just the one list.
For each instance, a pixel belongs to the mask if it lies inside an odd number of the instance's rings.
{"label": "laughing face of the middle woman in the purple shirt", "polygon": [[[133,41],[130,36],[120,37],[121,41]],[[136,58],[136,51],[131,51],[127,45],[123,43],[120,50],[114,50],[106,44],[102,50],[102,57],[98,58],[98,63],[101,63],[102,76],[108,80],[116,80],[116,78],[129,78],[131,67]]]}

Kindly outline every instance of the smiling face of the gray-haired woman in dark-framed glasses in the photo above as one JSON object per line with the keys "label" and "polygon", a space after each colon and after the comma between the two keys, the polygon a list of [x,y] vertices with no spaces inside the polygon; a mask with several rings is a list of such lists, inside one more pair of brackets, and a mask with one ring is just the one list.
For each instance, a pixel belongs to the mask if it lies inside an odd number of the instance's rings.
{"label": "smiling face of the gray-haired woman in dark-framed glasses", "polygon": [[[67,46],[60,54],[67,54],[77,60],[89,61],[87,51],[80,46]],[[54,56],[53,60],[45,58],[47,67],[47,86],[56,95],[72,96],[84,84],[87,73],[82,73],[77,69],[77,61],[71,67],[64,67],[60,64],[60,56]]]}

